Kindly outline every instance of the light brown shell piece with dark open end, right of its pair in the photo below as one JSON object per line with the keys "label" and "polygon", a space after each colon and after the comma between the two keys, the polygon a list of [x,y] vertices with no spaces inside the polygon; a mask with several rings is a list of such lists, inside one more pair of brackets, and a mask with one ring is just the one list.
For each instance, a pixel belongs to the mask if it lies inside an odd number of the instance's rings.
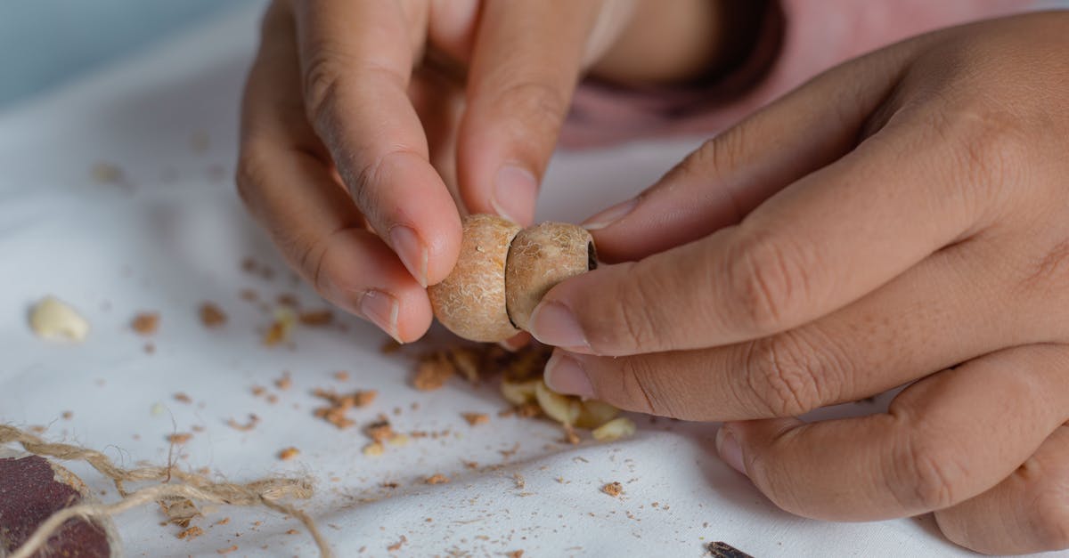
{"label": "light brown shell piece with dark open end, right of its pair", "polygon": [[505,272],[509,317],[527,329],[531,312],[554,285],[597,267],[594,242],[586,229],[543,222],[520,231]]}

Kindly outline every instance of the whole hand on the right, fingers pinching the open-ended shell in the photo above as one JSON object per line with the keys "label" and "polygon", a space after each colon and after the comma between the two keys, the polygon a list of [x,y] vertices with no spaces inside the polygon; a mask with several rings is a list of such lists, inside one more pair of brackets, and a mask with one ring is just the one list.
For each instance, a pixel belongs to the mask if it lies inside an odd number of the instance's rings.
{"label": "whole hand on the right, fingers pinching the open-ended shell", "polygon": [[[728,422],[781,508],[1069,547],[1069,13],[834,68],[591,219],[532,317],[562,392]],[[909,384],[886,413],[793,417]]]}

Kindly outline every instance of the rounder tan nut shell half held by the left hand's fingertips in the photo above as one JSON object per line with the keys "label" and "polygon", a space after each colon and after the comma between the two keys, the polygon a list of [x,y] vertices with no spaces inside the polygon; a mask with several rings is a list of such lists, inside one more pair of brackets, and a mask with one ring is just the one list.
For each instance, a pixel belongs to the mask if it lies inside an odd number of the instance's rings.
{"label": "rounder tan nut shell half held by the left hand's fingertips", "polygon": [[434,315],[471,341],[503,341],[520,332],[509,320],[505,266],[520,226],[495,215],[464,219],[461,252],[449,277],[428,289]]}

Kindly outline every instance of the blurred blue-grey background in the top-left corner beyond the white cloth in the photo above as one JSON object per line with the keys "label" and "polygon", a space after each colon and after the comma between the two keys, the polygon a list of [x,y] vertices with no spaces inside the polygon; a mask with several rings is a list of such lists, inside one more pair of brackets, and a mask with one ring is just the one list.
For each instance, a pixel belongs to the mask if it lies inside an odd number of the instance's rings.
{"label": "blurred blue-grey background in the top-left corner beyond the white cloth", "polygon": [[254,0],[4,0],[0,108]]}

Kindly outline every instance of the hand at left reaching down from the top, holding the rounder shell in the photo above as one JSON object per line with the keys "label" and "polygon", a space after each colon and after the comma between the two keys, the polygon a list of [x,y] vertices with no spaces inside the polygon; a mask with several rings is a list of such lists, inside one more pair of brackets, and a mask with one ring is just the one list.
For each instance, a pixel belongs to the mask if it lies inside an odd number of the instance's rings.
{"label": "hand at left reaching down from the top, holding the rounder shell", "polygon": [[719,3],[656,4],[276,0],[245,91],[238,191],[320,294],[413,341],[432,320],[425,286],[460,249],[447,183],[474,213],[530,223],[582,72],[663,80],[714,64]]}

